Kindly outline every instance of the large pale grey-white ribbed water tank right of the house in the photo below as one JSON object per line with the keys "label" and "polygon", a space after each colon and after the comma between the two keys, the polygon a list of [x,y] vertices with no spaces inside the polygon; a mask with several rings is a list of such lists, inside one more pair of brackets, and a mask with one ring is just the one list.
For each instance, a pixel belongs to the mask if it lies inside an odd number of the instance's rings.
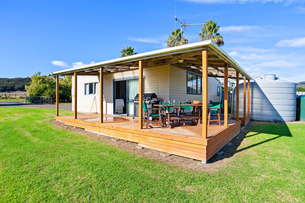
{"label": "large pale grey-white ribbed water tank right of the house", "polygon": [[[243,81],[239,84],[239,114],[243,114]],[[248,83],[248,82],[247,82]],[[246,84],[246,103],[248,102]],[[246,108],[248,105],[246,104]],[[233,114],[236,113],[236,87],[233,94]],[[247,111],[246,111],[247,112]],[[284,122],[296,119],[296,83],[275,75],[255,77],[250,82],[251,120]]]}

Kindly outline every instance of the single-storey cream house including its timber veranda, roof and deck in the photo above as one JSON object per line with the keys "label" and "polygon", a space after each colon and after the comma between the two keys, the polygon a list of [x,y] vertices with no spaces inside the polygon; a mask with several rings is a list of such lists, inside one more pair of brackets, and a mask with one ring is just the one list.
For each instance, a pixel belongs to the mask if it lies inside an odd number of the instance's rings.
{"label": "single-storey cream house including its timber veranda, roof and deck", "polygon": [[[253,79],[211,40],[70,68],[53,72],[52,75],[56,75],[56,121],[203,163],[207,163],[208,159],[234,138],[240,131],[241,121],[247,121],[250,117],[248,86],[248,101],[244,96],[242,112],[237,107],[236,114],[228,114],[228,95],[224,94],[221,122],[207,125],[209,100],[217,101],[219,98],[212,91],[219,85],[213,78],[224,78],[224,92],[228,92],[228,79],[236,79],[237,87],[239,80],[246,83],[246,80],[249,82]],[[59,116],[60,75],[74,76],[74,115]],[[87,76],[95,76],[95,79],[91,80]],[[239,89],[237,88],[237,95]],[[246,86],[240,91],[246,95]],[[197,123],[173,126],[170,122],[163,121],[163,128],[151,125],[151,128],[143,129],[144,92],[156,93],[159,98],[166,100],[170,96],[177,103],[187,98],[191,98],[191,101],[199,100],[202,104],[197,106],[197,112],[201,112],[197,114]],[[136,94],[139,94],[139,103],[136,108],[132,108]],[[77,111],[88,112],[93,96],[97,99],[96,109],[99,108],[98,112],[102,113],[78,115]],[[126,100],[126,115],[138,113],[139,117],[113,115],[113,101],[121,100],[122,97],[123,101]],[[239,96],[236,101],[239,105]],[[181,118],[175,117],[176,120]]]}

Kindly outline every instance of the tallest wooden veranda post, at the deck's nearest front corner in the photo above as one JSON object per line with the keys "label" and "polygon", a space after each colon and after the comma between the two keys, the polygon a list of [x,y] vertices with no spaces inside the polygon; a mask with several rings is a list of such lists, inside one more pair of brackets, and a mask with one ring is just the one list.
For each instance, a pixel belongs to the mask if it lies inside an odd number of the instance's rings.
{"label": "tallest wooden veranda post, at the deck's nearest front corner", "polygon": [[208,53],[202,51],[202,138],[208,135],[207,115],[208,115]]}

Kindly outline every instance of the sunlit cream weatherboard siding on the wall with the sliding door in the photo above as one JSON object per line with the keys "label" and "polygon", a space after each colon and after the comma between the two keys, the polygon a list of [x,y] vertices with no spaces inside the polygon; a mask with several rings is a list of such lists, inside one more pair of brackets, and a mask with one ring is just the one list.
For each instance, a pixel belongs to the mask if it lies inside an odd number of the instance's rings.
{"label": "sunlit cream weatherboard siding on the wall with the sliding door", "polygon": [[[168,98],[168,70],[168,65],[144,68],[144,92],[156,93],[159,98]],[[139,76],[138,69],[104,75],[104,114],[113,114],[113,79],[136,76]],[[99,94],[84,95],[84,84],[89,82],[99,82],[99,77],[77,76],[77,112],[89,113],[92,106],[93,98],[95,96],[97,98],[97,112],[99,113]],[[74,87],[74,77],[72,78],[72,87]],[[72,95],[74,95],[73,90]],[[72,107],[74,107],[74,96],[72,96]],[[96,112],[95,102],[92,107],[91,113],[92,112]]]}

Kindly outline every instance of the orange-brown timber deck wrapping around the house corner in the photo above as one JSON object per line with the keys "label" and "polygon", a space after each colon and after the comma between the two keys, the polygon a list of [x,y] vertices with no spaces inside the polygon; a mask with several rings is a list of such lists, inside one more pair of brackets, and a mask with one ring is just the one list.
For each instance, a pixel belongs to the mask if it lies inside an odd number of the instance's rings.
{"label": "orange-brown timber deck wrapping around the house corner", "polygon": [[[99,114],[56,116],[56,121],[84,128],[86,131],[138,143],[139,146],[162,152],[207,161],[240,131],[241,121],[228,120],[228,127],[211,123],[207,139],[202,138],[202,127],[186,122],[173,128],[149,125],[148,129],[138,129],[138,118],[104,114],[104,123],[99,123]],[[176,123],[175,123],[176,124]]]}

